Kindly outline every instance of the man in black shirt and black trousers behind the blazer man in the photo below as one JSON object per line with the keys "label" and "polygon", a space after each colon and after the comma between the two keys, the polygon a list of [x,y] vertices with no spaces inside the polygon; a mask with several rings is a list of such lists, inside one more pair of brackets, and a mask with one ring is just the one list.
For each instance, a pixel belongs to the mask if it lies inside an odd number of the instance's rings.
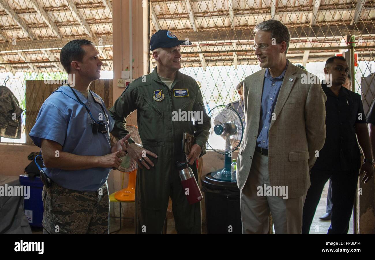
{"label": "man in black shirt and black trousers behind the blazer man", "polygon": [[[344,57],[330,57],[324,68],[330,85],[322,83],[326,101],[326,143],[311,169],[311,186],[303,206],[302,234],[308,234],[327,180],[332,183],[332,222],[328,234],[347,234],[353,211],[358,175],[371,178],[374,167],[365,113],[359,94],[342,87],[349,67]],[[360,150],[364,160],[361,167]],[[361,168],[360,174],[359,169]]]}

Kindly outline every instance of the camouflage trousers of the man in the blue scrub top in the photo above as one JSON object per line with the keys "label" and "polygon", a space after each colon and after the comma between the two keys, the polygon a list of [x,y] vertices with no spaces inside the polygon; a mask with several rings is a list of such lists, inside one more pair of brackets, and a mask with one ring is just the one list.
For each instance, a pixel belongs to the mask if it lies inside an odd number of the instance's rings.
{"label": "camouflage trousers of the man in the blue scrub top", "polygon": [[74,191],[55,182],[42,191],[44,234],[108,234],[107,182],[98,191]]}

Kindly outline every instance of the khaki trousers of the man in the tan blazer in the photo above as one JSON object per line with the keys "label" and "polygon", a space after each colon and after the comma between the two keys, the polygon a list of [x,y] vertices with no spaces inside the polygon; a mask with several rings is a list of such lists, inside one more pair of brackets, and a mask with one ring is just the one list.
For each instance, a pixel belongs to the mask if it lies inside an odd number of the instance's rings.
{"label": "khaki trousers of the man in the tan blazer", "polygon": [[260,196],[264,193],[259,192],[259,187],[270,186],[268,156],[255,152],[253,160],[249,177],[240,192],[242,233],[267,234],[271,212],[276,234],[301,234],[306,194],[285,200],[275,194]]}

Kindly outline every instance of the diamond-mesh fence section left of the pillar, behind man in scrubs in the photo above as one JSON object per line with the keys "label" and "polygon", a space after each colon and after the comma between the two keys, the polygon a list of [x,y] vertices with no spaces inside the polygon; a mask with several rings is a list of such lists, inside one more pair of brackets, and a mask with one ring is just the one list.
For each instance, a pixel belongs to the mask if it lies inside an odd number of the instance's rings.
{"label": "diamond-mesh fence section left of the pillar, behind man in scrubs", "polygon": [[[39,108],[51,93],[50,89],[26,84],[26,81],[48,81],[52,89],[59,83],[57,80],[67,79],[68,74],[59,60],[60,50],[67,42],[92,41],[104,63],[101,78],[113,78],[112,3],[109,0],[0,0],[0,16],[0,85],[10,89],[24,111],[18,118],[21,137],[0,137],[0,142],[25,143],[25,129],[31,129]],[[30,95],[26,96],[26,92]],[[110,92],[104,92],[102,98],[109,100]],[[2,123],[0,128],[6,126]]]}

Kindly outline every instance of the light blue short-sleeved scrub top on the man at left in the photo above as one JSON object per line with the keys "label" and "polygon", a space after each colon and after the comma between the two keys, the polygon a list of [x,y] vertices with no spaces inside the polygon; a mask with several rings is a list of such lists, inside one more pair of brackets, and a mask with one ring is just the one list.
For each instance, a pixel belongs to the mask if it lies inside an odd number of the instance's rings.
{"label": "light blue short-sleeved scrub top on the man at left", "polygon": [[[75,101],[77,98],[70,87],[63,85],[56,91],[44,101],[36,123],[30,131],[29,136],[34,144],[41,147],[42,139],[48,139],[61,144],[63,152],[75,155],[103,156],[111,153],[110,132],[113,129],[114,120],[108,116],[108,110],[101,97],[92,92],[97,100],[100,99],[107,113],[109,122],[106,124],[109,131],[107,134],[93,134],[89,113],[83,105]],[[90,93],[87,99],[80,92],[76,91],[76,93],[81,102],[91,110],[96,121],[106,120],[101,106],[94,102]],[[66,189],[97,191],[107,181],[112,168],[95,167],[75,171],[57,168],[43,169],[50,179]]]}

